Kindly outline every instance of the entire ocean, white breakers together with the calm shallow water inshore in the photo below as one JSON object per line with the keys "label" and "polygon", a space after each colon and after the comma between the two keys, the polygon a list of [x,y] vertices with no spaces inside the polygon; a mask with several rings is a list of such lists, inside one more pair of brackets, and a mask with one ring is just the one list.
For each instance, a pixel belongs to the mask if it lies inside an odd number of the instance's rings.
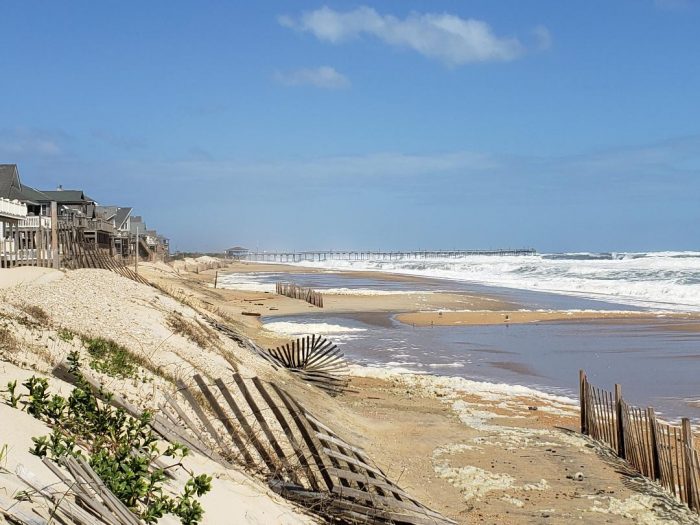
{"label": "entire ocean, white breakers together with the calm shallow water inshore", "polygon": [[[700,311],[700,252],[569,253],[300,263],[322,272],[223,276],[223,286],[274,291],[280,280],[327,293],[481,293],[523,309],[652,310],[639,322],[547,322],[414,328],[391,315],[315,311],[264,319],[288,334],[323,334],[351,360],[417,373],[517,384],[576,397],[578,370],[623,385],[629,402],[700,421],[700,332],[663,312]],[[342,270],[375,274],[338,273]],[[297,269],[298,271],[298,269]],[[381,272],[412,275],[392,280]]]}

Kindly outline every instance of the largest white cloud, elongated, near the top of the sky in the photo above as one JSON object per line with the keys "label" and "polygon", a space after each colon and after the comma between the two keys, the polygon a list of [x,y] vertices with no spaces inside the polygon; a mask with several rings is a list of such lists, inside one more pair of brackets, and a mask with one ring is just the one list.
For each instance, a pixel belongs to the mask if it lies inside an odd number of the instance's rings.
{"label": "largest white cloud, elongated, near the top of the sky", "polygon": [[[391,46],[413,49],[450,66],[514,60],[526,52],[517,38],[496,36],[486,22],[447,13],[411,13],[402,19],[381,15],[371,7],[346,12],[322,7],[298,18],[281,16],[278,21],[333,44],[372,35]],[[540,48],[549,44],[546,28],[540,26],[535,32]]]}

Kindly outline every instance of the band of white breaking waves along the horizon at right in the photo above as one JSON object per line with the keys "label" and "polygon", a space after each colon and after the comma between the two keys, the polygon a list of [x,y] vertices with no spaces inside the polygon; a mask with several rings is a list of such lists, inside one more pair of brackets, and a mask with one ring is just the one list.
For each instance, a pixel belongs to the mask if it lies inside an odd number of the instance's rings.
{"label": "band of white breaking waves along the horizon at right", "polygon": [[622,304],[700,311],[700,252],[468,256],[300,264],[455,279]]}

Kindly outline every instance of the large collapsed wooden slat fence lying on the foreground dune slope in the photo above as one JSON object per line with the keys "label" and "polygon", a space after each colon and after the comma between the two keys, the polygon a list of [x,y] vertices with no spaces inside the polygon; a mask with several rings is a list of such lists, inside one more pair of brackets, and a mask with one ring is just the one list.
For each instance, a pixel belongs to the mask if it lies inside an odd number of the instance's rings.
{"label": "large collapsed wooden slat fence lying on the foreground dune slope", "polygon": [[329,520],[454,523],[406,493],[276,384],[238,373],[228,383],[199,375],[194,382],[196,389],[178,383],[156,423],[223,465],[245,466],[283,497]]}

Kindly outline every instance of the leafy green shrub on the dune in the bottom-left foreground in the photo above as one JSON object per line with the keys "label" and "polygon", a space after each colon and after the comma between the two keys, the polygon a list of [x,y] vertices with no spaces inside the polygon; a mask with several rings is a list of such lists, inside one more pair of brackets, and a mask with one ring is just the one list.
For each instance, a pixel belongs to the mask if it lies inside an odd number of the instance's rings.
{"label": "leafy green shrub on the dune in the bottom-left foreground", "polygon": [[[16,382],[8,388],[7,404],[51,427],[49,435],[32,438],[30,452],[52,460],[85,458],[109,490],[146,523],[156,523],[166,514],[183,525],[199,523],[204,509],[198,498],[211,490],[212,478],[184,466],[187,447],[174,443],[161,452],[149,412],[135,418],[102,403],[99,399],[110,399],[111,394],[93,391],[80,371],[78,353],[71,352],[68,361],[75,388],[67,398],[51,394],[44,378],[27,379],[22,383],[26,392],[19,395]],[[171,458],[169,466],[160,466],[164,458]],[[169,469],[182,469],[189,476],[179,494],[167,490]]]}

